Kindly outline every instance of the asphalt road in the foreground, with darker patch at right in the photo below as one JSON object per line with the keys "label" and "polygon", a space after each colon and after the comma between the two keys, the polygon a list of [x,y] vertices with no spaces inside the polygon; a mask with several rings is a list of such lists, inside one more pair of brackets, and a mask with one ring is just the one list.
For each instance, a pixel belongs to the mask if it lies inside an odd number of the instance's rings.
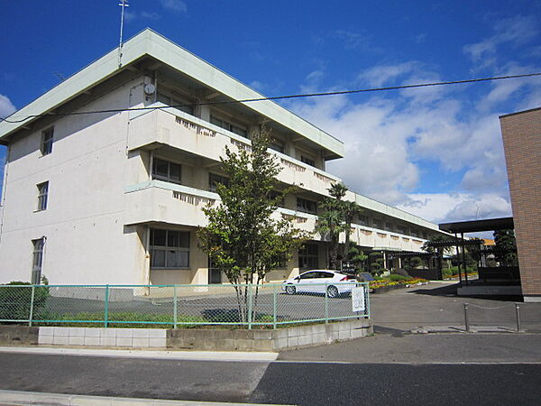
{"label": "asphalt road in the foreground, with darker patch at right", "polygon": [[213,362],[0,354],[0,389],[298,405],[521,404],[541,364]]}

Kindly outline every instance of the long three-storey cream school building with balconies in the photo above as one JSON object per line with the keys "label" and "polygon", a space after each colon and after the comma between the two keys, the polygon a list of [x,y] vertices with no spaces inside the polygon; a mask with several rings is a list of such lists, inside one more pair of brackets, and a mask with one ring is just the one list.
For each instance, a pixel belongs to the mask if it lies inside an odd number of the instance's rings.
{"label": "long three-storey cream school building with balconies", "polygon": [[[151,30],[126,42],[122,58],[109,52],[0,123],[0,282],[225,281],[195,231],[206,224],[201,207],[219,204],[225,147],[249,147],[263,121],[280,184],[299,188],[275,215],[314,229],[318,201],[339,180],[326,161],[344,156],[343,143],[272,101],[236,103],[261,94]],[[364,208],[351,237],[366,250],[416,252],[440,233],[397,208],[347,198]],[[316,235],[269,280],[324,267]]]}

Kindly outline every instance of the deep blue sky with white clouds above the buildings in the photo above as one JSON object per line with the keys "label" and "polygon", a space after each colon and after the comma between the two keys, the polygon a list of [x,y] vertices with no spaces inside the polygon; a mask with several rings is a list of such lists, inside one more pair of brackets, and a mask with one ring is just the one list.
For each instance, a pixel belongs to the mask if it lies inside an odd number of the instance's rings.
{"label": "deep blue sky with white clouds above the buildings", "polygon": [[[130,0],[149,26],[267,96],[541,71],[541,1]],[[0,115],[118,43],[115,0],[0,0]],[[510,215],[498,116],[541,78],[284,103],[345,143],[328,170],[432,221]],[[0,149],[0,161],[5,148]]]}

